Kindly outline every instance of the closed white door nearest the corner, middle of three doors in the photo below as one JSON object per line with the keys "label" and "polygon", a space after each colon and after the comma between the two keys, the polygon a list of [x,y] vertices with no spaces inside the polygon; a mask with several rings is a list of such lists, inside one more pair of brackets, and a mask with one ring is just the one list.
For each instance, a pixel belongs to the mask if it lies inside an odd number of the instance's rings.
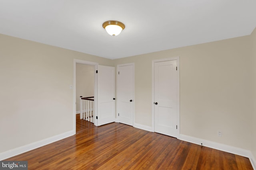
{"label": "closed white door nearest the corner, middle of three doors", "polygon": [[134,64],[118,65],[117,94],[118,121],[133,126]]}

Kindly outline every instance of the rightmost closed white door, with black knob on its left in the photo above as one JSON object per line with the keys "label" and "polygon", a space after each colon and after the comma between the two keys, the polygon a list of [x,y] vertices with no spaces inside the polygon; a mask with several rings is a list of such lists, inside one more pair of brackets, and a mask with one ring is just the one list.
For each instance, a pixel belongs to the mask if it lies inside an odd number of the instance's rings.
{"label": "rightmost closed white door, with black knob on its left", "polygon": [[154,63],[155,132],[177,137],[177,60]]}

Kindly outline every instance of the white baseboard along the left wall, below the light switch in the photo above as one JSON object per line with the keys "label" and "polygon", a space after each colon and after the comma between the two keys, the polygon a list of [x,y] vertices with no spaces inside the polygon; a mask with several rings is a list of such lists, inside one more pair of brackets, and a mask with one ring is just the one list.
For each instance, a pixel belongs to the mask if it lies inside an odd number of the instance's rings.
{"label": "white baseboard along the left wall, below the light switch", "polygon": [[24,145],[22,147],[18,147],[18,148],[12,149],[12,150],[8,150],[6,152],[2,152],[2,153],[0,153],[0,160],[4,160],[4,159],[10,158],[12,156],[16,156],[18,154],[28,152],[30,150],[42,147],[44,145],[48,145],[50,143],[59,141],[61,139],[64,139],[66,137],[70,137],[70,136],[75,135],[75,134],[76,134],[75,131],[68,131],[68,132],[53,136],[53,137],[43,139],[41,141],[37,141],[37,142],[34,142],[34,143],[30,143],[28,145]]}

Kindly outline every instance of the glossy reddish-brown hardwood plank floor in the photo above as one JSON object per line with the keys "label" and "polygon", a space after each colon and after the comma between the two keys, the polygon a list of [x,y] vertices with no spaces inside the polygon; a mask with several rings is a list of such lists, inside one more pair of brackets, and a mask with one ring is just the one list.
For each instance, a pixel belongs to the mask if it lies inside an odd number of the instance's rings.
{"label": "glossy reddish-brown hardwood plank floor", "polygon": [[100,127],[77,117],[77,134],[6,160],[29,170],[253,170],[248,158],[121,123]]}

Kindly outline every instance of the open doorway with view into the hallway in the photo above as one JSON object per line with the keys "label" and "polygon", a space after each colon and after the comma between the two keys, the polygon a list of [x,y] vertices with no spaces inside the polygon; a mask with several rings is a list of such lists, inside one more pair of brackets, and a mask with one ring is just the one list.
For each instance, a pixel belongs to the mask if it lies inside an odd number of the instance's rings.
{"label": "open doorway with view into the hallway", "polygon": [[[84,104],[81,104],[81,97],[94,97],[96,96],[96,69],[98,63],[92,63],[88,61],[74,60],[74,128],[76,133],[80,133],[85,129],[94,127],[95,121],[86,121],[81,118],[80,115],[88,113],[88,110],[85,111]],[[82,100],[84,102],[84,100]],[[91,102],[92,107],[90,109],[91,115],[90,119],[95,119],[94,113],[96,113],[96,104],[94,101]],[[82,111],[81,111],[82,109]],[[82,114],[80,114],[82,113]]]}

